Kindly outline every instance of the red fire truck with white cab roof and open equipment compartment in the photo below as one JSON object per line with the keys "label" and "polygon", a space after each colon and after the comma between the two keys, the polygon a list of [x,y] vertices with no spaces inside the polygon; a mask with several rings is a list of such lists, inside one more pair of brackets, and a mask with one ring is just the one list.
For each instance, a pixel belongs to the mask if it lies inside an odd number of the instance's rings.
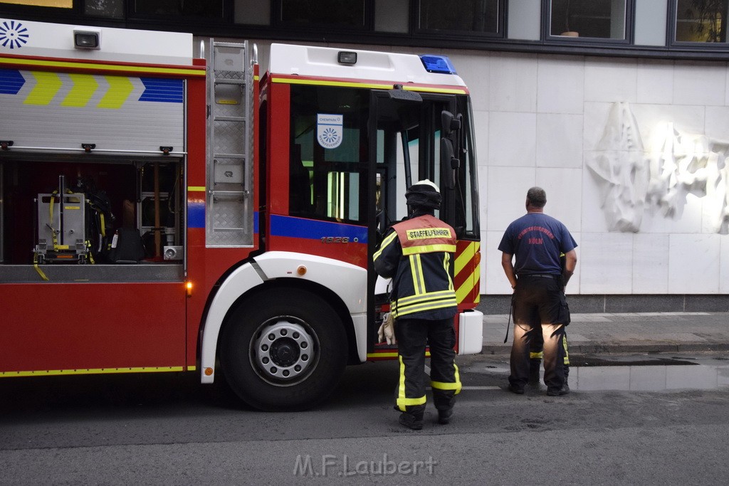
{"label": "red fire truck with white cab roof and open equipment compartment", "polygon": [[372,255],[439,184],[481,349],[469,92],[441,55],[0,19],[0,377],[198,372],[311,407],[378,342]]}

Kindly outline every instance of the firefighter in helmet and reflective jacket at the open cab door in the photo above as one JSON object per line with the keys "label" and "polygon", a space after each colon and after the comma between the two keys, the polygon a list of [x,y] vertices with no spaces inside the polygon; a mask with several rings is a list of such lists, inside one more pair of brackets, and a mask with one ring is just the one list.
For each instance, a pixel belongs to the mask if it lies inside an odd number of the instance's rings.
{"label": "firefighter in helmet and reflective jacket at the open cab door", "polygon": [[394,224],[374,255],[375,270],[392,278],[391,315],[398,344],[399,380],[395,409],[399,422],[423,427],[425,410],[425,350],[430,346],[430,385],[438,422],[449,423],[455,396],[461,391],[456,367],[451,260],[456,232],[434,216],[440,191],[429,180],[418,181],[405,193],[410,216]]}

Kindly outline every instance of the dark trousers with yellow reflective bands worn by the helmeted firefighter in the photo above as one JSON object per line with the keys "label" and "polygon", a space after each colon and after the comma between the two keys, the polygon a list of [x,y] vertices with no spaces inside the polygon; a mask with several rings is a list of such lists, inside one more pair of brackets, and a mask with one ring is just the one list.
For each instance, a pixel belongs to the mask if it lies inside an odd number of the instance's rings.
{"label": "dark trousers with yellow reflective bands worn by the helmeted firefighter", "polygon": [[398,318],[395,338],[399,375],[395,389],[395,409],[422,415],[425,410],[425,350],[430,346],[430,386],[438,410],[450,410],[461,391],[456,366],[456,331],[453,318],[438,321]]}

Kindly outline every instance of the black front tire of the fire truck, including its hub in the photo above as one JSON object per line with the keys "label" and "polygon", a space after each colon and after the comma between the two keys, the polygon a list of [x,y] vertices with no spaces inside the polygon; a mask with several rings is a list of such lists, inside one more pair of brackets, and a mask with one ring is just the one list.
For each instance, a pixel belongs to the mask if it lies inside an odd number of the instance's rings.
{"label": "black front tire of the fire truck, including its hub", "polygon": [[251,407],[308,409],[327,398],[348,356],[339,315],[324,299],[276,289],[241,302],[225,322],[220,362],[230,388]]}

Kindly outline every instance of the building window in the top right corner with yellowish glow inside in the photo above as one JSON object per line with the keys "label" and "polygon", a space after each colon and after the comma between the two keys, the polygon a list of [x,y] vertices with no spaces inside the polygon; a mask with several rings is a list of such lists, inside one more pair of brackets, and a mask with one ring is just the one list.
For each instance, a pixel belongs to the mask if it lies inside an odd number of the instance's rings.
{"label": "building window in the top right corner with yellowish glow inside", "polygon": [[677,42],[727,42],[729,0],[677,0]]}

